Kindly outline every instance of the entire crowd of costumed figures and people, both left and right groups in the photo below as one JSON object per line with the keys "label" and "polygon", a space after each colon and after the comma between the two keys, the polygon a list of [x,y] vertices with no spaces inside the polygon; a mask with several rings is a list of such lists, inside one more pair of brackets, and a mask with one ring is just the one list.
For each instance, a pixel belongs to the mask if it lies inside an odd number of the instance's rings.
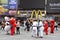
{"label": "entire crowd of costumed figures and people, both left and right groups", "polygon": [[[4,22],[4,23],[3,23]],[[49,26],[50,24],[50,26]],[[43,38],[44,33],[48,35],[48,27],[50,27],[50,33],[54,33],[54,27],[56,27],[58,24],[55,22],[54,19],[51,20],[24,20],[24,31],[30,31],[30,28],[32,30],[32,37],[40,37]],[[15,17],[4,17],[4,21],[2,21],[2,28],[7,32],[10,31],[10,35],[20,34],[20,20],[16,20]]]}

